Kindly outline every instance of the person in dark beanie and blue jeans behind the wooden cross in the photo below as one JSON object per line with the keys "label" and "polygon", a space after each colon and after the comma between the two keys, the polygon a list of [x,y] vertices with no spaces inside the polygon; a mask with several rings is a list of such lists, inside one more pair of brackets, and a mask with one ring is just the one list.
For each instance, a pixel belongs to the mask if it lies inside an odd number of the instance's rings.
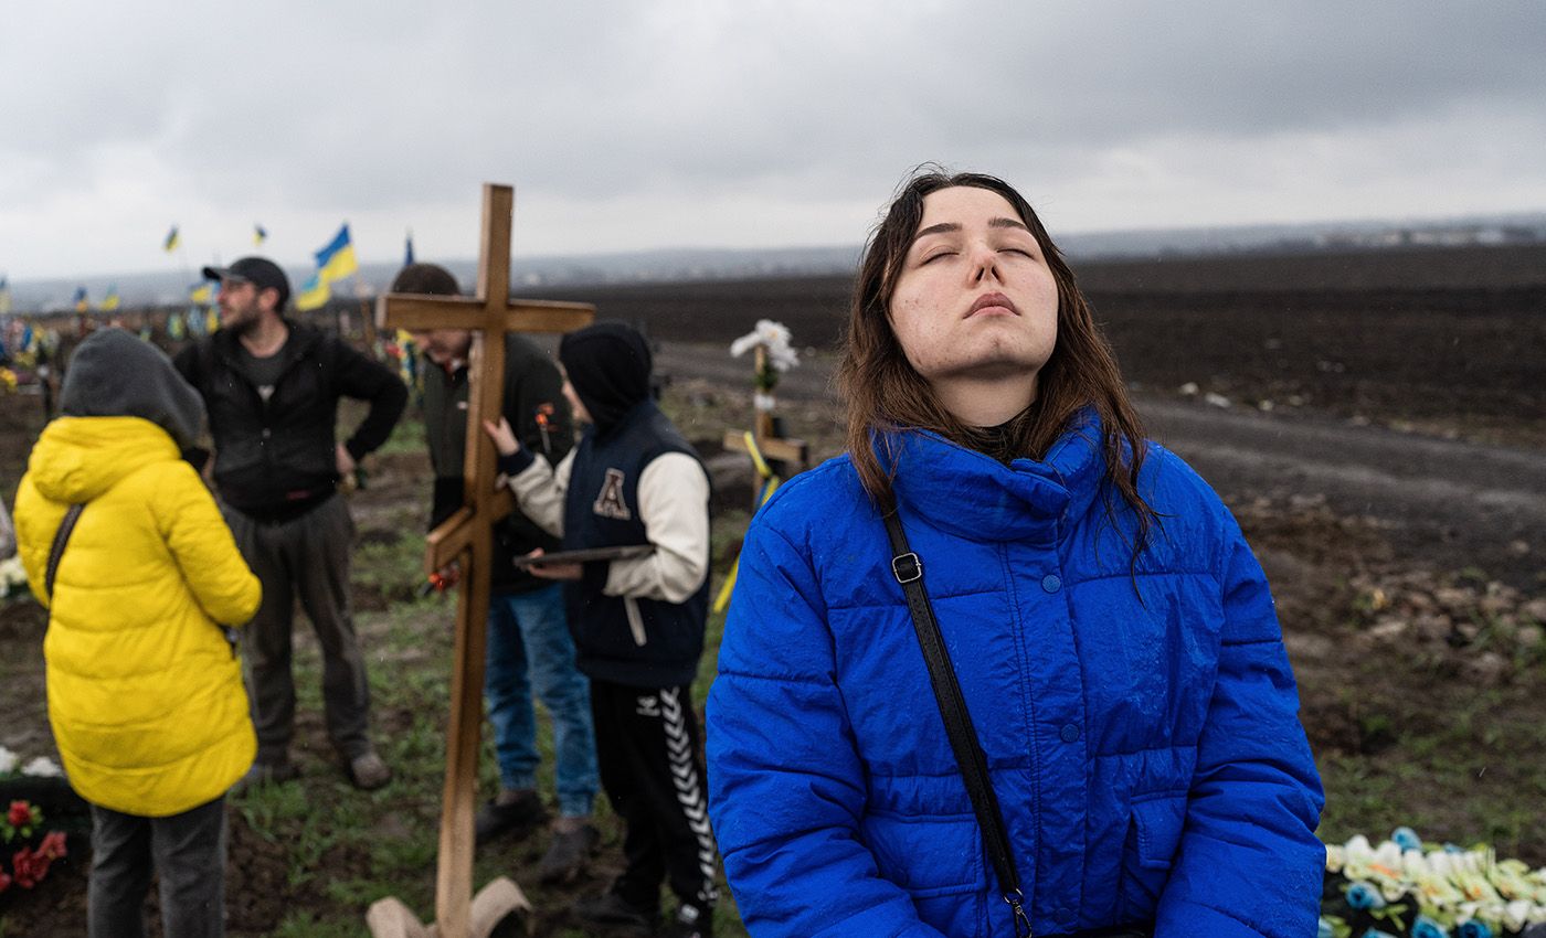
{"label": "person in dark beanie and blue jeans behind the wooden cross", "polygon": [[[461,287],[438,264],[408,264],[393,280],[394,294],[458,297]],[[430,525],[462,507],[462,461],[467,451],[467,400],[472,391],[467,359],[473,334],[428,329],[413,334],[424,349],[424,436],[434,467]],[[504,345],[504,399],[499,413],[519,428],[535,453],[557,464],[574,448],[569,402],[558,366],[532,340],[509,334]],[[512,559],[558,539],[519,511],[495,525],[489,596],[489,643],[484,697],[499,762],[499,794],[478,811],[476,834],[484,844],[502,834],[524,836],[547,819],[536,793],[536,715],[532,692],[553,719],[553,780],[558,819],[538,875],[544,882],[569,882],[584,868],[600,834],[591,810],[600,787],[591,686],[575,668],[575,646],[564,615],[563,586],[516,569]]]}

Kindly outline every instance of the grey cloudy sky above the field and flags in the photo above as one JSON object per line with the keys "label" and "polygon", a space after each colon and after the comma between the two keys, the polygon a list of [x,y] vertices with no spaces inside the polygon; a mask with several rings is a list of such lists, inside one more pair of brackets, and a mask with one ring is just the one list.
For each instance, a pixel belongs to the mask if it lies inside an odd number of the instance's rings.
{"label": "grey cloudy sky above the field and flags", "polygon": [[923,161],[1053,233],[1546,209],[1546,3],[0,0],[0,274],[856,244]]}

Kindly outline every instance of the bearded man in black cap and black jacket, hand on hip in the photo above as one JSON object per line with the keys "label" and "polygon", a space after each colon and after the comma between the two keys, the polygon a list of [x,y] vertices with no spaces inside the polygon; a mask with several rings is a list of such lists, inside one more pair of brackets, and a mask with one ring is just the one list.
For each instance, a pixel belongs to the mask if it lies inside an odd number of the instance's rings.
{"label": "bearded man in black cap and black jacket, hand on hip", "polygon": [[[369,681],[349,615],[354,521],[339,481],[386,442],[408,389],[386,369],[314,326],[284,318],[289,280],[267,258],[204,267],[220,280],[220,329],[184,348],[178,371],[198,388],[215,437],[215,488],[263,606],[243,640],[258,756],[237,790],[297,774],[291,623],[295,600],[322,646],[328,737],[349,780],[380,788],[391,771],[368,734]],[[369,402],[345,440],[334,439],[339,397]]]}

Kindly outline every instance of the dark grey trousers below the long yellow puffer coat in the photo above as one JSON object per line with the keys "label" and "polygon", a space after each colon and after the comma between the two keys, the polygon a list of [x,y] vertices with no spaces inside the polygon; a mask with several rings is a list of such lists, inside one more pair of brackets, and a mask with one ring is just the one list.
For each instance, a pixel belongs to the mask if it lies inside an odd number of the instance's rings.
{"label": "dark grey trousers below the long yellow puffer coat", "polygon": [[91,938],[144,938],[150,873],[161,875],[169,938],[226,933],[226,799],[170,817],[139,817],[91,805]]}

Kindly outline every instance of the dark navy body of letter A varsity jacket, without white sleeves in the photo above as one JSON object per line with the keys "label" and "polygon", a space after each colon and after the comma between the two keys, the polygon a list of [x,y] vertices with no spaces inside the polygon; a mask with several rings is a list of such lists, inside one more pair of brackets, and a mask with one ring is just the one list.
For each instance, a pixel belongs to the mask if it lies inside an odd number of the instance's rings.
{"label": "dark navy body of letter A varsity jacket, without white sleeves", "polygon": [[[648,542],[645,522],[638,518],[638,476],[666,453],[697,459],[671,420],[648,400],[604,437],[587,430],[569,474],[564,549]],[[707,502],[702,510],[708,511]],[[637,688],[693,683],[703,654],[708,579],[705,575],[703,584],[685,603],[608,596],[586,581],[570,584],[566,593],[569,627],[580,671]]]}

